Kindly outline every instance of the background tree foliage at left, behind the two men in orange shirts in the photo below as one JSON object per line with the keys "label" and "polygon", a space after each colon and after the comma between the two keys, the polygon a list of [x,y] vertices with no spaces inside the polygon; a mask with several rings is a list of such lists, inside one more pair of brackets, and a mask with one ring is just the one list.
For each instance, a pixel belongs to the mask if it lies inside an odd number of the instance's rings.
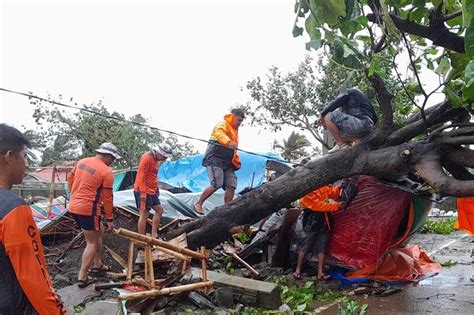
{"label": "background tree foliage at left, behind the two men in orange shirts", "polygon": [[43,154],[42,165],[92,156],[103,142],[112,142],[119,149],[123,159],[114,164],[117,168],[137,166],[140,156],[160,143],[170,145],[176,158],[196,152],[191,144],[178,143],[175,136],[165,139],[156,130],[134,124],[148,123],[141,114],[126,117],[110,112],[101,101],[84,105],[86,111],[78,113],[33,98],[31,102],[36,105],[33,117],[40,127],[34,138],[42,139],[35,145]]}

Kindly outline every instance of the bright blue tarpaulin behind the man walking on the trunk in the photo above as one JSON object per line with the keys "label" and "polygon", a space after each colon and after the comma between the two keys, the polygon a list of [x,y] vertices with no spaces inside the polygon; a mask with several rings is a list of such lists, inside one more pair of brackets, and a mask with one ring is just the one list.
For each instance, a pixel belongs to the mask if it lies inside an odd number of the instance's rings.
{"label": "bright blue tarpaulin behind the man walking on the trunk", "polygon": [[[275,153],[261,153],[268,157],[239,152],[242,167],[236,172],[237,192],[247,187],[255,188],[265,181],[265,166],[268,160],[282,160]],[[207,170],[202,166],[204,154],[197,154],[174,162],[161,164],[158,172],[160,182],[173,187],[186,188],[191,192],[201,192],[210,185]]]}

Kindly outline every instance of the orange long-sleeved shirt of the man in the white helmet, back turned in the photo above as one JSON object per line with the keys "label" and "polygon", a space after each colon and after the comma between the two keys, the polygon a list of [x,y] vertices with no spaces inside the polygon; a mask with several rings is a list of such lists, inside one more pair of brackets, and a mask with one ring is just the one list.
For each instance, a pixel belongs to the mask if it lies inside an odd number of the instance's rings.
{"label": "orange long-sleeved shirt of the man in the white helmet, back turned", "polygon": [[85,158],[76,163],[68,177],[71,201],[69,211],[80,215],[100,215],[112,220],[114,173],[102,160]]}

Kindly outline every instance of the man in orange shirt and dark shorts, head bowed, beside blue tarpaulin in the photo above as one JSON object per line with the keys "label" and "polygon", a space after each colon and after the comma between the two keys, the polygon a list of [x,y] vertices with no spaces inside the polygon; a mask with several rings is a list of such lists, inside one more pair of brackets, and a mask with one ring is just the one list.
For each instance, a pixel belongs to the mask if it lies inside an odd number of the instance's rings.
{"label": "man in orange shirt and dark shorts, head bowed, beside blue tarpaulin", "polygon": [[146,152],[138,163],[137,177],[133,186],[135,203],[140,211],[138,220],[138,233],[145,234],[148,211],[151,208],[155,211],[151,226],[151,237],[158,236],[158,226],[160,225],[163,207],[160,203],[160,190],[158,189],[158,169],[160,162],[171,157],[172,153],[168,147],[159,146]]}

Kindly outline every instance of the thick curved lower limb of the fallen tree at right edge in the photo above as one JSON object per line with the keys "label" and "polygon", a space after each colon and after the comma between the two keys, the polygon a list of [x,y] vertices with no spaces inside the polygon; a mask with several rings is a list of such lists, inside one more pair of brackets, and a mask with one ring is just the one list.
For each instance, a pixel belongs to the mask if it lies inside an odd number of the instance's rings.
{"label": "thick curved lower limb of the fallen tree at right edge", "polygon": [[415,165],[418,175],[441,195],[470,197],[474,192],[474,181],[459,180],[449,177],[443,172],[438,160],[423,160]]}

